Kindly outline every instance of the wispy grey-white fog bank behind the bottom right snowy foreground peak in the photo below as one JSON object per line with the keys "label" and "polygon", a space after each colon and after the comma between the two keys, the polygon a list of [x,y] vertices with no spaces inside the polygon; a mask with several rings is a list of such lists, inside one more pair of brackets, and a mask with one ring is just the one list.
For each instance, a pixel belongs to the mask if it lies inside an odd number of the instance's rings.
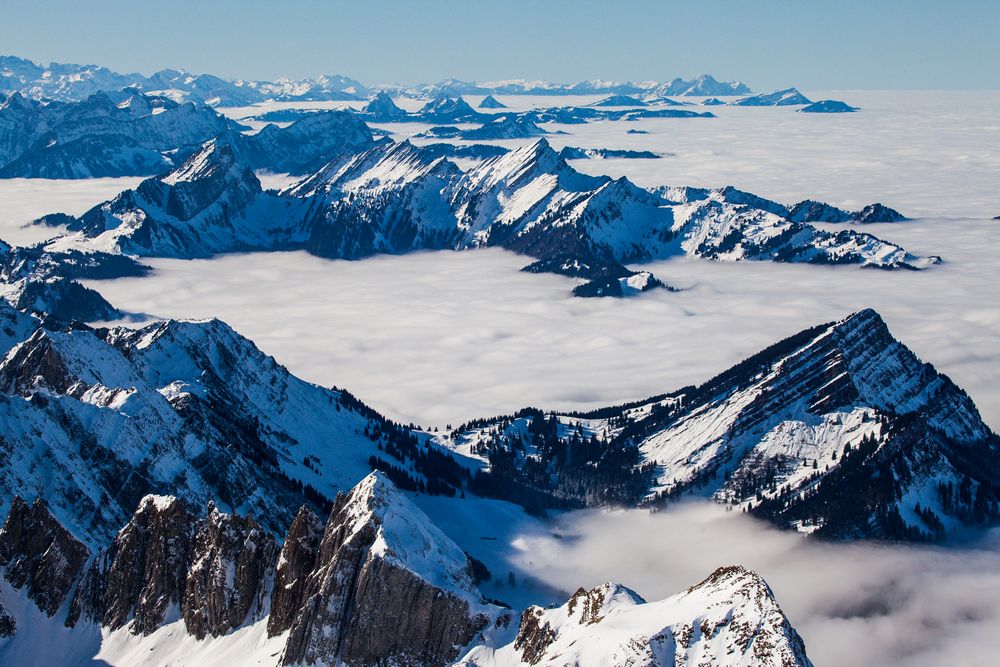
{"label": "wispy grey-white fog bank behind the bottom right snowy foreground peak", "polygon": [[817,667],[987,667],[1000,655],[1000,530],[950,549],[830,544],[705,502],[564,515],[515,562],[564,590],[616,581],[647,600],[741,564],[774,590]]}

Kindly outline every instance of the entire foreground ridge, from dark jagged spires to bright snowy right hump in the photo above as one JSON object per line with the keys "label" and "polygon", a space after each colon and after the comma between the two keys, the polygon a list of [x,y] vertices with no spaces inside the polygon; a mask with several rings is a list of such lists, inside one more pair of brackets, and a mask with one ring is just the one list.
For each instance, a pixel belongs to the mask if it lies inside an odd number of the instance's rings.
{"label": "entire foreground ridge, from dark jagged spires to bright snowy right hump", "polygon": [[[195,640],[195,659],[240,628],[266,624],[282,647],[270,664],[562,664],[553,661],[581,632],[592,646],[576,649],[580,664],[810,664],[770,589],[738,567],[649,604],[617,585],[580,589],[559,609],[530,607],[518,623],[483,599],[466,554],[381,473],[339,495],[325,526],[303,507],[280,552],[248,516],[209,504],[196,518],[175,497],[146,496],[90,555],[44,502],[29,508],[18,498],[0,529],[0,568],[51,619],[35,622],[62,624],[81,642],[100,632],[98,646],[170,626]],[[18,620],[3,623],[0,655],[19,647]],[[21,664],[33,664],[31,647],[19,650]],[[148,659],[157,650],[151,644]]]}

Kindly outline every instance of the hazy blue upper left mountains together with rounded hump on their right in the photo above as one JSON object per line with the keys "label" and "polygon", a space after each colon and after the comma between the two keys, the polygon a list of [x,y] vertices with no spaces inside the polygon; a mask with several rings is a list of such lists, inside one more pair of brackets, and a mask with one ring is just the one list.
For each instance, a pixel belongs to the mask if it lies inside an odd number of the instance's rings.
{"label": "hazy blue upper left mountains together with rounded hump on their right", "polygon": [[17,93],[0,106],[0,178],[161,174],[224,135],[252,169],[306,174],[334,155],[372,143],[357,114],[306,114],[253,135],[206,106],[131,91],[80,102],[40,103]]}

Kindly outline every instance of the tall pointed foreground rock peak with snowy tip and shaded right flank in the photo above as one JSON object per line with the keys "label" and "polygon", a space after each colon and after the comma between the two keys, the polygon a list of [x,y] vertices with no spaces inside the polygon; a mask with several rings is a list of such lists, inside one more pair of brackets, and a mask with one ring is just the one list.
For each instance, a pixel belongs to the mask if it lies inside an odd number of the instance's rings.
{"label": "tall pointed foreground rock peak with snowy tip and shaded right flank", "polygon": [[337,655],[347,665],[449,664],[494,613],[470,568],[461,549],[373,473],[334,505],[283,662]]}

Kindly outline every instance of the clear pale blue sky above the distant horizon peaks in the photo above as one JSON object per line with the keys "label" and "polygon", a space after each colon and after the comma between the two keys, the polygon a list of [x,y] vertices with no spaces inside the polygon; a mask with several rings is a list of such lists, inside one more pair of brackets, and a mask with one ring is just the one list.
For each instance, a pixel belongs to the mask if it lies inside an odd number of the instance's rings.
{"label": "clear pale blue sky above the distant horizon peaks", "polygon": [[998,0],[3,0],[0,53],[229,78],[1000,88]]}

